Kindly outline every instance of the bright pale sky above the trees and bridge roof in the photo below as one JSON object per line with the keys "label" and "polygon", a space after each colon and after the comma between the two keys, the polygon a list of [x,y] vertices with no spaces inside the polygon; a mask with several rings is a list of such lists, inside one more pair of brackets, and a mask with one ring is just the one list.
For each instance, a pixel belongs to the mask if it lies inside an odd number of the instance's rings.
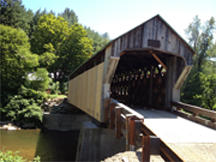
{"label": "bright pale sky above the trees and bridge roof", "polygon": [[[26,9],[53,10],[66,7],[78,16],[79,23],[114,39],[160,14],[184,39],[185,29],[198,15],[202,23],[216,18],[216,0],[22,0]],[[216,37],[216,34],[214,34]]]}

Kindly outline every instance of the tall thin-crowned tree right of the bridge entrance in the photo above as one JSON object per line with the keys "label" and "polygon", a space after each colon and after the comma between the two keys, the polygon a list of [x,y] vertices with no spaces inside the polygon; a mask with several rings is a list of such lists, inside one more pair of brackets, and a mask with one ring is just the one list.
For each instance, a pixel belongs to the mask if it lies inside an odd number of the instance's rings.
{"label": "tall thin-crowned tree right of the bridge entrance", "polygon": [[[203,82],[204,74],[206,74],[206,66],[210,66],[209,59],[213,57],[210,52],[213,32],[215,30],[215,19],[212,17],[203,26],[198,16],[186,29],[189,43],[194,47],[197,55],[193,58],[193,68],[181,89],[181,100],[186,103],[203,106],[204,98],[195,97],[203,96],[207,93],[206,85]],[[209,77],[209,76],[206,76]],[[211,79],[213,77],[210,77]]]}

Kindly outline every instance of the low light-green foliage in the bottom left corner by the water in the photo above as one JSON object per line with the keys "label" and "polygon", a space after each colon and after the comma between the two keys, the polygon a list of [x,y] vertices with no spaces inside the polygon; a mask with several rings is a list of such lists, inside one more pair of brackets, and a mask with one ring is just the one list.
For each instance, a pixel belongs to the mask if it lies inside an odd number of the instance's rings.
{"label": "low light-green foliage in the bottom left corner by the water", "polygon": [[[19,156],[19,151],[0,151],[0,162],[25,162],[27,159],[23,159],[22,156]],[[40,157],[37,156],[34,158],[33,162],[40,162]]]}

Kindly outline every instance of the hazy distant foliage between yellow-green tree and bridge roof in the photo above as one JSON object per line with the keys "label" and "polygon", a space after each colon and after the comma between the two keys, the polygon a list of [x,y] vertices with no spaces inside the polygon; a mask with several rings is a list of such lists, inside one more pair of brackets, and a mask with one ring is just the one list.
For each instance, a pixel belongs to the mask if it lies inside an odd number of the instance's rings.
{"label": "hazy distant foliage between yellow-green tree and bridge roof", "polygon": [[90,27],[84,27],[88,33],[88,38],[93,41],[93,53],[97,53],[101,48],[103,48],[109,41],[108,33],[100,35],[98,32],[92,30]]}

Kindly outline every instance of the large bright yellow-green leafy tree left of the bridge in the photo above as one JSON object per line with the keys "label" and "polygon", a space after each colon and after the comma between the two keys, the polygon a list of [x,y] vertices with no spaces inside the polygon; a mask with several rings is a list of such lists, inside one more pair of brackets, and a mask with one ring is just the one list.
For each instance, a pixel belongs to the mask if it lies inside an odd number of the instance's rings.
{"label": "large bright yellow-green leafy tree left of the bridge", "polygon": [[[69,28],[62,17],[48,14],[38,21],[31,50],[40,55],[41,66],[54,75],[54,82],[59,81],[61,87],[70,72],[91,56],[91,44],[81,25],[74,24]],[[55,63],[50,62],[53,59],[56,59]]]}

